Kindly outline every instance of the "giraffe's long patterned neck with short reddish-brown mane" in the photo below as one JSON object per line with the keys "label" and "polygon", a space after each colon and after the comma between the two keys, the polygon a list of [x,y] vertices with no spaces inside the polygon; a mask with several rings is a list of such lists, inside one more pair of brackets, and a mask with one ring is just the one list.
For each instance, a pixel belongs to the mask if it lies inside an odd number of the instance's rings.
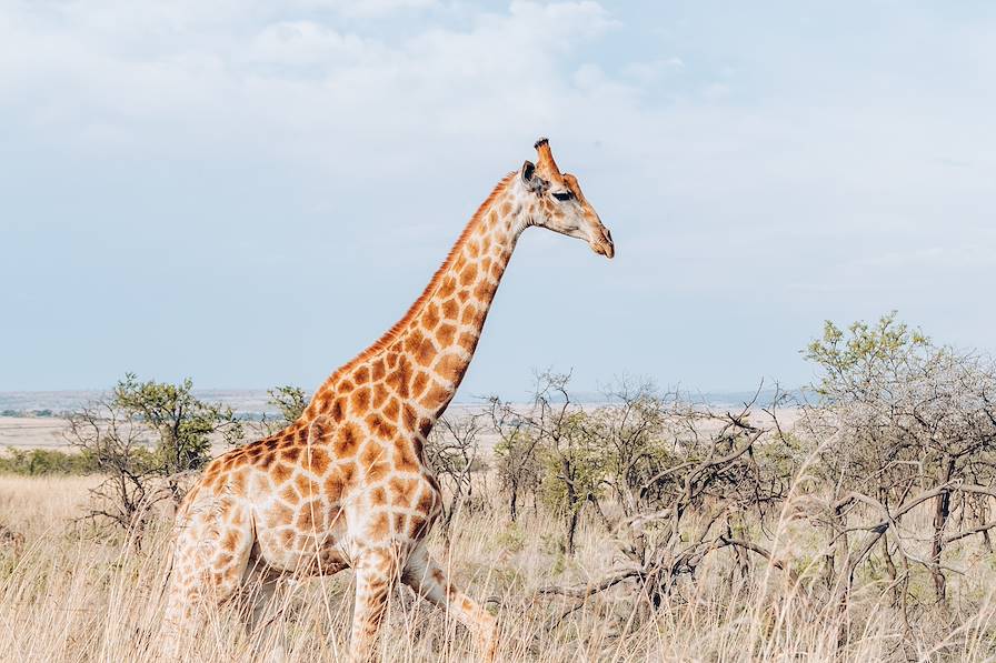
{"label": "giraffe's long patterned neck with short reddish-brown mane", "polygon": [[[336,371],[316,392],[305,420],[327,410],[370,371],[402,403],[418,411],[419,425],[435,422],[456,394],[480,338],[488,310],[528,213],[506,177],[481,204],[422,295],[380,340]],[[428,421],[427,421],[428,420]]]}

